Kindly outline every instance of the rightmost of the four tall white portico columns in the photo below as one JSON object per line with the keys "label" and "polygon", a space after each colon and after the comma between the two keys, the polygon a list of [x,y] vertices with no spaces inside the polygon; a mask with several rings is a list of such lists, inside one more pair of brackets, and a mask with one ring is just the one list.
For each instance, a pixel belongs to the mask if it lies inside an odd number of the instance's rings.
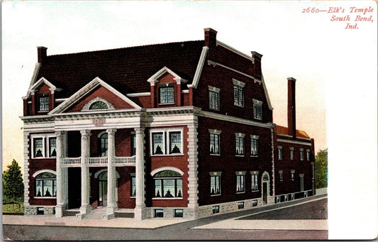
{"label": "rightmost of the four tall white portico columns", "polygon": [[136,157],[135,157],[135,219],[145,219],[145,155],[144,155],[144,130],[145,128],[134,128]]}

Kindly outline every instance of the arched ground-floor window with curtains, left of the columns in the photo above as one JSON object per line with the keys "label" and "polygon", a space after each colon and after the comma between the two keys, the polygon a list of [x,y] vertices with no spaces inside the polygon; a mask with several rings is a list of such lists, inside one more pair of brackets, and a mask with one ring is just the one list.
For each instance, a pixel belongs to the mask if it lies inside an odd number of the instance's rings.
{"label": "arched ground-floor window with curtains, left of the columns", "polygon": [[57,176],[50,172],[35,177],[35,197],[57,197]]}

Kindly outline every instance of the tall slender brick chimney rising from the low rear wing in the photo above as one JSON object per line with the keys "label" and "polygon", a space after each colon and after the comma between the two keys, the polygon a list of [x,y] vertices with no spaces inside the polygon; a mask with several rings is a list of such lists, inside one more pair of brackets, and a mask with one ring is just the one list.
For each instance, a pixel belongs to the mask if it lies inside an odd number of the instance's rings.
{"label": "tall slender brick chimney rising from the low rear wing", "polygon": [[293,139],[296,139],[295,81],[293,77],[287,78],[287,128]]}

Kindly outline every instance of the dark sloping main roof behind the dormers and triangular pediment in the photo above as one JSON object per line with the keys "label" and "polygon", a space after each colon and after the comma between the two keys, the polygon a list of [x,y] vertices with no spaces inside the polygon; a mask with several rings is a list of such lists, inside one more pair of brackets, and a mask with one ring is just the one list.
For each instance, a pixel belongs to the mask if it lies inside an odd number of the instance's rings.
{"label": "dark sloping main roof behind the dormers and triangular pediment", "polygon": [[191,84],[204,40],[143,45],[85,53],[50,55],[40,66],[37,80],[45,77],[70,97],[95,77],[123,94],[150,92],[148,78],[168,67]]}

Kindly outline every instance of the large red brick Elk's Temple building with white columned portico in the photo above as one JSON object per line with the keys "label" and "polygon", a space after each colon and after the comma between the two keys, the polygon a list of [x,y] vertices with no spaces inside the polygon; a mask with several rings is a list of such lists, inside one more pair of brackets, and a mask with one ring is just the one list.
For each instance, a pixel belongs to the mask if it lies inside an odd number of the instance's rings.
{"label": "large red brick Elk's Temple building with white columned portico", "polygon": [[[313,162],[313,140],[274,125],[262,55],[216,33],[67,55],[38,47],[21,117],[25,213],[196,218],[307,191],[311,169],[279,163],[277,148],[306,143]],[[277,182],[288,169],[304,189]]]}

